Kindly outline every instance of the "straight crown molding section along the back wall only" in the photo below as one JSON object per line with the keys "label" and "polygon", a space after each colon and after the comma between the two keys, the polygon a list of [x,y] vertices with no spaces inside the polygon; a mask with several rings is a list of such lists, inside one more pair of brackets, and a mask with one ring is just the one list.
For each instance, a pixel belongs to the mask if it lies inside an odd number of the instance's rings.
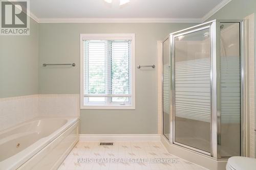
{"label": "straight crown molding section along the back wall only", "polygon": [[201,22],[201,18],[38,18],[38,23]]}

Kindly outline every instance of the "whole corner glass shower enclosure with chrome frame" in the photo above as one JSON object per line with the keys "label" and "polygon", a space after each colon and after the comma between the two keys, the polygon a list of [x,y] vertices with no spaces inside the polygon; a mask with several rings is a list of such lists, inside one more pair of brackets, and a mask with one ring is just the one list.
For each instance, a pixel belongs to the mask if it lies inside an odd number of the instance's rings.
{"label": "whole corner glass shower enclosure with chrome frame", "polygon": [[243,39],[243,20],[213,20],[162,42],[169,142],[217,159],[243,155]]}

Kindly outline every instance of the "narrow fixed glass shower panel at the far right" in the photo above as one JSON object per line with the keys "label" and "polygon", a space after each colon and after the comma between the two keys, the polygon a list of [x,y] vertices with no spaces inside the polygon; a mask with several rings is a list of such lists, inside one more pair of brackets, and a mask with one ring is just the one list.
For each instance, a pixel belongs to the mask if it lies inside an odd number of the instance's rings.
{"label": "narrow fixed glass shower panel at the far right", "polygon": [[240,23],[221,22],[221,157],[240,156]]}

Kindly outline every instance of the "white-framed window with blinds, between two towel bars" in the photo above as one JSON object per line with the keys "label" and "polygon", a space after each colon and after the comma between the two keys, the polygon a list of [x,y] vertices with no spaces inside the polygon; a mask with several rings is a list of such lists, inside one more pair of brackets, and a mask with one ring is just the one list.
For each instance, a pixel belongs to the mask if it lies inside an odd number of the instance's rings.
{"label": "white-framed window with blinds, between two towel bars", "polygon": [[81,109],[135,109],[134,34],[81,34]]}

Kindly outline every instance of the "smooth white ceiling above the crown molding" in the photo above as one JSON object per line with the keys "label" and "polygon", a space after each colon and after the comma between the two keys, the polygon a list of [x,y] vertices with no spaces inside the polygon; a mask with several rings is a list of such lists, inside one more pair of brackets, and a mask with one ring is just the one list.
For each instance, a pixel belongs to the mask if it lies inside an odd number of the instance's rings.
{"label": "smooth white ceiling above the crown molding", "polygon": [[30,11],[40,18],[174,18],[201,19],[231,0],[33,0]]}

